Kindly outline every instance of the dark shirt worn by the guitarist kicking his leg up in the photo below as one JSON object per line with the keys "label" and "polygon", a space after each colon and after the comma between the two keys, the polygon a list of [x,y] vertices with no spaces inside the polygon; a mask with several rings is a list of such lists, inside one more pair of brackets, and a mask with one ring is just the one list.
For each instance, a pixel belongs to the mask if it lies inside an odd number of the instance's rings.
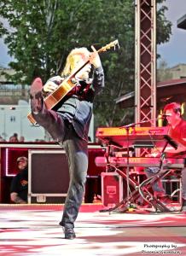
{"label": "dark shirt worn by the guitarist kicking his leg up", "polygon": [[[55,81],[55,78],[49,80]],[[65,102],[61,101],[55,111],[73,125],[78,137],[88,141],[93,100],[96,94],[104,87],[102,67],[95,69],[93,79],[89,79],[87,82],[79,81],[76,86],[83,88],[83,90],[77,90],[72,96],[67,97]]]}

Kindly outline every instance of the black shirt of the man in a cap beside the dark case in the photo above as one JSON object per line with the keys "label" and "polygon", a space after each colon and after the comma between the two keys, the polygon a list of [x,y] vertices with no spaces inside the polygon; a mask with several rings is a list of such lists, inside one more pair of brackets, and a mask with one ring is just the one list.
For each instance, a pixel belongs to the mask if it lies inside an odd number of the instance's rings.
{"label": "black shirt of the man in a cap beside the dark case", "polygon": [[27,201],[28,194],[28,171],[27,168],[18,173],[12,180],[10,193],[17,193],[18,196]]}

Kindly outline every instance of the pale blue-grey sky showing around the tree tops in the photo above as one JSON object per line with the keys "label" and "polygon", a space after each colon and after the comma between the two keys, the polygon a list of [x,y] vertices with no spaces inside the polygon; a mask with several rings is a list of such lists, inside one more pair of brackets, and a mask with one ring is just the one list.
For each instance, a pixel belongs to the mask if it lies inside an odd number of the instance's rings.
{"label": "pale blue-grey sky showing around the tree tops", "polygon": [[[161,56],[160,60],[166,61],[168,67],[174,67],[179,63],[186,63],[186,30],[177,28],[177,20],[186,14],[186,0],[166,0],[163,4],[168,7],[166,17],[171,20],[172,35],[168,43],[157,47],[157,52]],[[0,38],[0,66],[2,67],[8,67],[11,61],[7,51],[3,39]]]}

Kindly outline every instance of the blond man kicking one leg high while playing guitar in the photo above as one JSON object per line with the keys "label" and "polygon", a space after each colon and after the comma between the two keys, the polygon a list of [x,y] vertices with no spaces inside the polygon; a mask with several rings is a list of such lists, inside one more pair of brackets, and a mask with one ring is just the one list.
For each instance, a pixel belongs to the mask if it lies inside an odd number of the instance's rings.
{"label": "blond man kicking one leg high while playing guitar", "polygon": [[[88,168],[88,131],[93,100],[104,86],[102,63],[96,49],[92,49],[93,52],[86,48],[73,49],[61,76],[49,79],[44,86],[41,79],[35,79],[30,90],[32,117],[67,154],[70,184],[60,222],[67,239],[75,238],[74,222],[83,200]],[[65,97],[55,104],[55,108],[49,109],[53,98],[59,94],[61,98],[63,92]],[[44,96],[48,102],[44,102]]]}

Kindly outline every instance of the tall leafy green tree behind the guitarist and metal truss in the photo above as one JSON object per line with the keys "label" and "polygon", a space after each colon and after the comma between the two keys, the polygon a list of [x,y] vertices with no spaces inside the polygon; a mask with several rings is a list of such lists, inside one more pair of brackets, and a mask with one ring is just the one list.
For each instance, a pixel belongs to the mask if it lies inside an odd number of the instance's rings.
{"label": "tall leafy green tree behind the guitarist and metal truss", "polygon": [[[157,1],[163,3],[164,0]],[[60,73],[68,52],[93,44],[96,49],[119,39],[120,49],[102,55],[106,86],[95,104],[97,125],[123,125],[127,111],[115,99],[134,89],[135,1],[131,0],[2,0],[0,15],[11,30],[0,24],[0,36],[15,61],[15,83],[44,82]],[[165,7],[158,11],[158,43],[171,34]]]}

